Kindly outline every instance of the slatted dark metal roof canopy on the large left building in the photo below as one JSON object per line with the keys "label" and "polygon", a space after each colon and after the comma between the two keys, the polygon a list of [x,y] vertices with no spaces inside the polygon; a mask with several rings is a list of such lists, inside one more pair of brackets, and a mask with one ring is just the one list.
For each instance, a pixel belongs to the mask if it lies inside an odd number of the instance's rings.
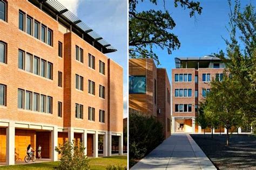
{"label": "slatted dark metal roof canopy on the large left building", "polygon": [[[92,45],[98,44],[101,48],[103,48],[102,50],[103,53],[110,53],[110,52],[117,51],[117,49],[114,48],[112,45],[110,45],[109,42],[107,42],[105,39],[99,36],[98,33],[93,31],[89,26],[83,23],[82,20],[80,20],[72,12],[66,9],[65,6],[60,4],[57,0],[29,0],[29,1],[35,4],[36,6],[38,6],[38,3],[39,3],[41,9],[42,9],[42,6],[46,6],[46,8],[50,8],[51,10],[53,10],[57,18],[60,17],[66,23],[68,23],[72,30],[76,29],[76,33],[79,34],[80,32],[79,37],[83,37],[83,39],[88,42],[89,40],[92,40],[92,42],[89,42],[89,44],[92,44]],[[87,36],[87,38],[84,38],[85,36]]]}

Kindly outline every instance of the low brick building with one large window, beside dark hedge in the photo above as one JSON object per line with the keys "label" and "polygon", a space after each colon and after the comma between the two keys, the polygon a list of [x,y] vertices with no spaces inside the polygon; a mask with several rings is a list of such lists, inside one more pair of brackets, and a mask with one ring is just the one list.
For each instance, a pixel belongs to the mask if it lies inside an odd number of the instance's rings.
{"label": "low brick building with one large window, beside dark hedge", "polygon": [[157,68],[153,59],[129,60],[129,110],[153,116],[171,134],[171,85],[166,69]]}

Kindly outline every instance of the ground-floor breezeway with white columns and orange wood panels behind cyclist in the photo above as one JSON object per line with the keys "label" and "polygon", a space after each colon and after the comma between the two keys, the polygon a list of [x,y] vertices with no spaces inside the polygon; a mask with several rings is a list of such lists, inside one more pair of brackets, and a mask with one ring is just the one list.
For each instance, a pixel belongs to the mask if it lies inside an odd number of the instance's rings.
{"label": "ground-floor breezeway with white columns and orange wood panels behind cyclist", "polygon": [[123,154],[123,133],[120,132],[0,120],[1,164],[6,162],[6,165],[14,165],[24,161],[29,144],[36,150],[36,154],[41,145],[43,159],[57,161],[60,155],[54,148],[63,145],[65,141],[73,141],[75,145],[81,141],[88,157],[111,156],[116,153],[116,148],[118,154]]}

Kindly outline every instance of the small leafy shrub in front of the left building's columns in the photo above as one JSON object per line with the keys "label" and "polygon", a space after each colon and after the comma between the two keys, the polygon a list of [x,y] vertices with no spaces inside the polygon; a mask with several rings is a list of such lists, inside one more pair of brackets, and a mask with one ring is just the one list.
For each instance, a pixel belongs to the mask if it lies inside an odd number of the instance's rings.
{"label": "small leafy shrub in front of the left building's columns", "polygon": [[67,141],[63,146],[55,147],[55,151],[61,154],[57,169],[90,169],[89,159],[84,155],[84,150],[85,147],[80,142],[74,146]]}

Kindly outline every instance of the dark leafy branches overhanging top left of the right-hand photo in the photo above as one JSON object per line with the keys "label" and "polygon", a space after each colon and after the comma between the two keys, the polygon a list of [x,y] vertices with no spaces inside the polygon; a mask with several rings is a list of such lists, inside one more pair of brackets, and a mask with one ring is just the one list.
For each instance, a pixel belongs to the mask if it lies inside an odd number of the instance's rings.
{"label": "dark leafy branches overhanging top left of the right-hand photo", "polygon": [[[129,54],[131,58],[153,58],[159,64],[158,56],[153,52],[153,47],[167,49],[168,54],[180,47],[178,37],[171,33],[176,26],[170,12],[165,9],[137,12],[136,6],[145,0],[129,0]],[[149,0],[157,5],[158,0]],[[165,0],[163,0],[165,4]],[[190,0],[175,0],[184,9],[190,9],[190,17],[197,12],[201,14],[199,2]]]}

